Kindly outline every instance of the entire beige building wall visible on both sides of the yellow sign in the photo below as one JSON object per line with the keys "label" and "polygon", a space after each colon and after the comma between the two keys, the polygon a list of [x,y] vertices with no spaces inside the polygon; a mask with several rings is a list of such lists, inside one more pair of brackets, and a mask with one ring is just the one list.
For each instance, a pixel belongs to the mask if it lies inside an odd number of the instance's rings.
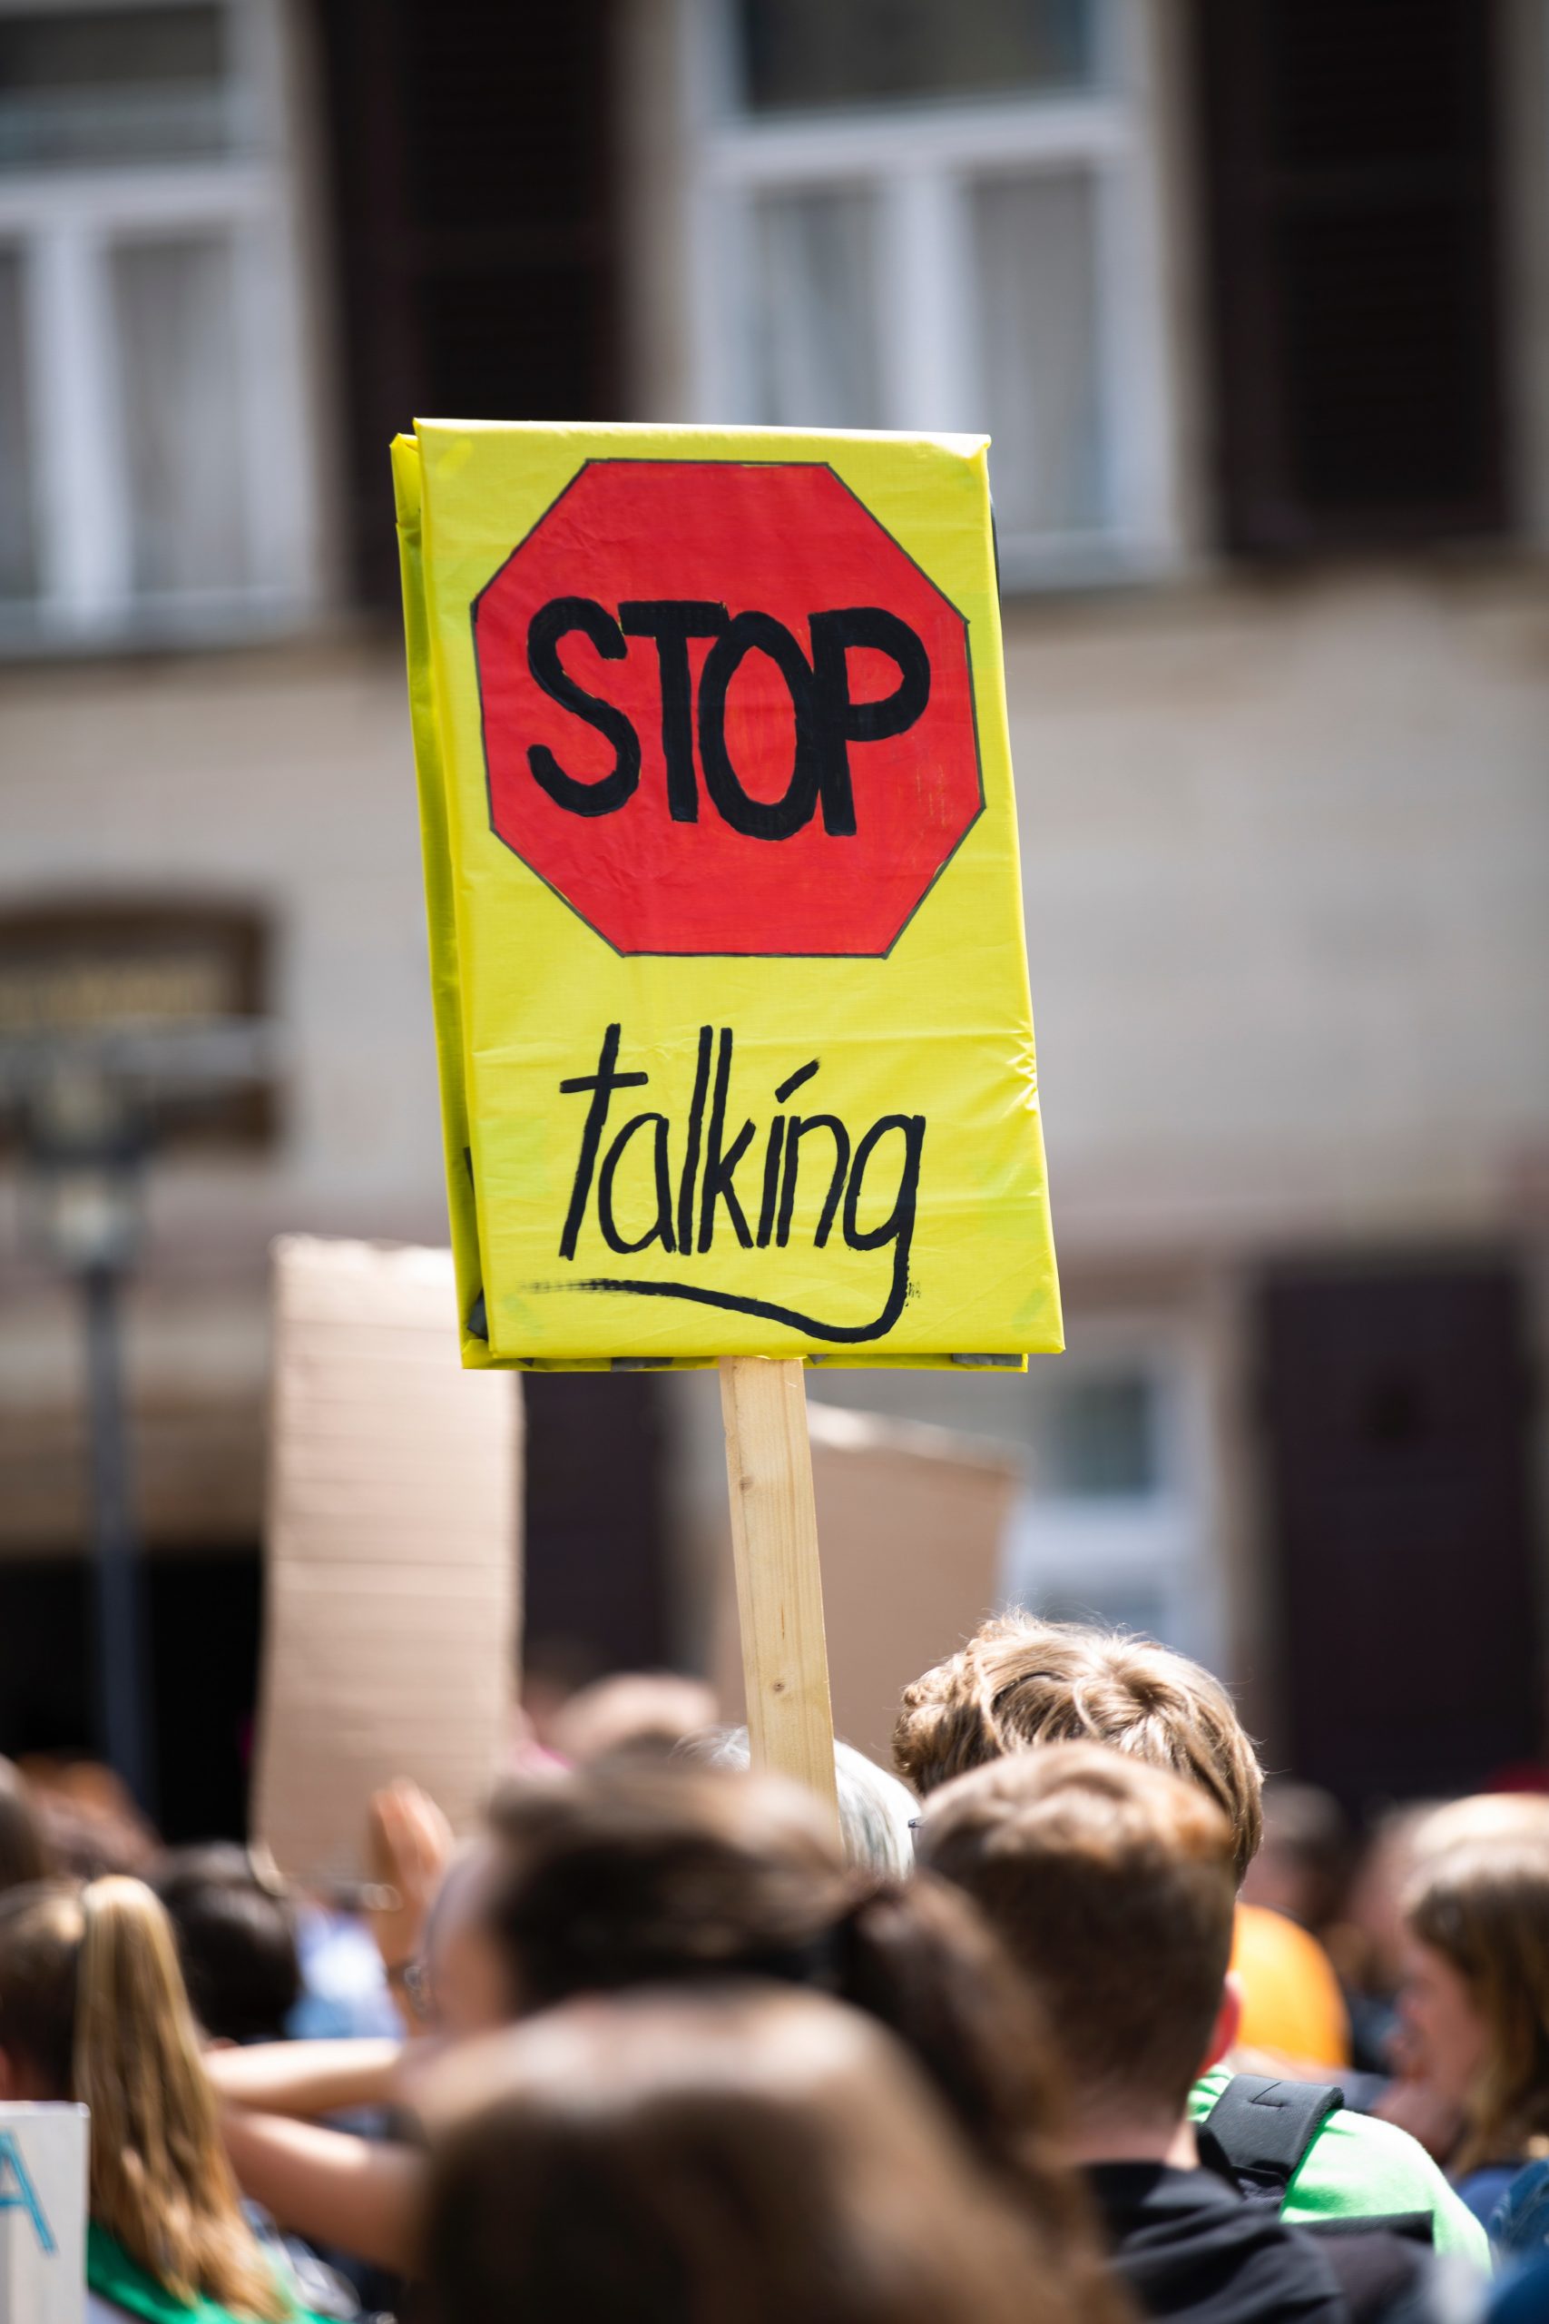
{"label": "entire beige building wall visible on both sides of the yellow sign", "polygon": [[[1008,683],[1073,1318],[1189,1336],[1235,1662],[1268,1669],[1245,1267],[1549,1222],[1549,593],[1498,565],[1020,602]],[[146,1525],[251,1538],[269,1234],[444,1236],[397,651],[7,672],[0,830],[0,899],[274,916],[286,1136],[265,1164],[158,1174],[132,1301]],[[0,1190],[0,1543],[63,1548],[79,1343]],[[673,1392],[692,1576],[720,1455],[690,1411],[711,1383]],[[1022,1427],[1017,1383],[834,1373],[820,1394]]]}

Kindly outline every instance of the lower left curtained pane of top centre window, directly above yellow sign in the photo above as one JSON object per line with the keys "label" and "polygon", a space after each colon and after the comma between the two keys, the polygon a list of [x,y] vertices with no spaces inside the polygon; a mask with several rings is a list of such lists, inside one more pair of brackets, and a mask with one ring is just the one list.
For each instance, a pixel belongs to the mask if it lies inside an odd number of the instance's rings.
{"label": "lower left curtained pane of top centre window, directly above yellow sign", "polygon": [[755,209],[757,418],[878,428],[876,202],[778,193]]}

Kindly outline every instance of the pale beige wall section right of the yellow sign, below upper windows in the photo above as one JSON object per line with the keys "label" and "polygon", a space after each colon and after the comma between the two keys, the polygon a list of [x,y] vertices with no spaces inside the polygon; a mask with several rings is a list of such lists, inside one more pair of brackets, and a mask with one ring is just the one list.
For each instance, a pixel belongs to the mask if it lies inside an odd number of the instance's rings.
{"label": "pale beige wall section right of the yellow sign, below upper windows", "polygon": [[1008,683],[1073,1257],[1542,1215],[1542,574],[1022,607]]}

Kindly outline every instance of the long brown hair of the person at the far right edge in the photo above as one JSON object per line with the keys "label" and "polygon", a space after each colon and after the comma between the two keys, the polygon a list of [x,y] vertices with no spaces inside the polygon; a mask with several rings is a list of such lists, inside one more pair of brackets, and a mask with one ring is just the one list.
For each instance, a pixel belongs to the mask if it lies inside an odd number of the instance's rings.
{"label": "long brown hair of the person at the far right edge", "polygon": [[1424,1857],[1405,1922],[1451,1961],[1489,2029],[1449,2171],[1514,2161],[1549,2136],[1549,1843],[1498,1834]]}

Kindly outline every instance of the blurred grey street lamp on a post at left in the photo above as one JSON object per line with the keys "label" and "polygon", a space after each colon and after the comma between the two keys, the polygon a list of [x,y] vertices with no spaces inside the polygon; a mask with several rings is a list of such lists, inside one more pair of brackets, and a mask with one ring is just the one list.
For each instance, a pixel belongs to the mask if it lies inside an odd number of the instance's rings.
{"label": "blurred grey street lamp on a post at left", "polygon": [[153,1808],[146,1620],[123,1397],[123,1285],[160,1139],[269,1078],[274,1027],[207,1018],[0,1041],[0,1120],[16,1127],[33,1234],[77,1283],[86,1325],[98,1727],[107,1764]]}

